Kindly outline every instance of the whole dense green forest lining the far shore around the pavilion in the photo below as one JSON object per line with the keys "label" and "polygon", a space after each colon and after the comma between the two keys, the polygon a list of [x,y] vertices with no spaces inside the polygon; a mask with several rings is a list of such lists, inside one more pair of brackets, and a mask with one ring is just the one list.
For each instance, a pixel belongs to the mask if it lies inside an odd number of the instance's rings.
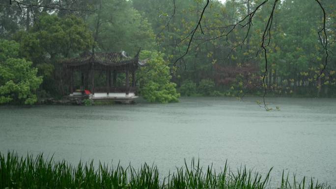
{"label": "whole dense green forest lining the far shore around the pavilion", "polygon": [[[139,48],[149,61],[137,84],[149,102],[263,95],[264,87],[267,96],[335,97],[335,1],[321,1],[321,9],[315,0],[281,0],[273,14],[274,1],[1,0],[0,104],[68,94],[64,59]],[[104,85],[105,76],[96,77]]]}

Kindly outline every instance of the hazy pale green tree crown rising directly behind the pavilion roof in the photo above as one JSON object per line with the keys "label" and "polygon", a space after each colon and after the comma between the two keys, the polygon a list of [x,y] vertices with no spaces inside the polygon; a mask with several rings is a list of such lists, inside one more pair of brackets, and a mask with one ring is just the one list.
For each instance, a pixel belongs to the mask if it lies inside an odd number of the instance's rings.
{"label": "hazy pale green tree crown rising directly behind the pavilion roof", "polygon": [[155,47],[154,33],[147,19],[128,0],[97,0],[97,11],[87,22],[97,43],[95,51],[135,53]]}

